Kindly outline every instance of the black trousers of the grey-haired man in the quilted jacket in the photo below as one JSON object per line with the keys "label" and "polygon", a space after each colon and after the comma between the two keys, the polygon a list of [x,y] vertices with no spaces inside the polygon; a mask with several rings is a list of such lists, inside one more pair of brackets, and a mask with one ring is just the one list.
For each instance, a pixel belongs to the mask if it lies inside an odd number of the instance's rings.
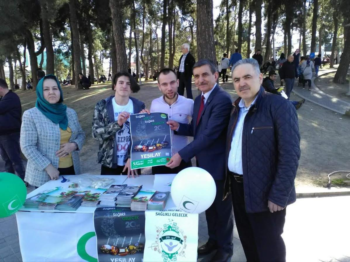
{"label": "black trousers of the grey-haired man in the quilted jacket", "polygon": [[237,182],[233,176],[231,192],[237,231],[247,262],[286,261],[286,246],[281,237],[286,209],[273,213],[247,213],[243,182]]}

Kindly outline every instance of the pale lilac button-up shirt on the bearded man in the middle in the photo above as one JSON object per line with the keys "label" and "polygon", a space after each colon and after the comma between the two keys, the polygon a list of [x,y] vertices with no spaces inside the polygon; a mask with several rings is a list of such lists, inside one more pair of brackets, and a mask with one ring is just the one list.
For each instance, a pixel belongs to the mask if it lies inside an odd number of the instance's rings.
{"label": "pale lilac button-up shirt on the bearded man in the middle", "polygon": [[[189,124],[193,114],[193,104],[194,101],[192,99],[179,95],[177,96],[177,100],[172,105],[168,105],[168,103],[164,100],[164,96],[161,96],[152,101],[150,111],[166,113],[169,116],[169,120],[174,120],[182,124]],[[190,141],[189,137],[176,135],[173,131],[172,135],[172,154],[174,155],[182,148],[187,146]]]}

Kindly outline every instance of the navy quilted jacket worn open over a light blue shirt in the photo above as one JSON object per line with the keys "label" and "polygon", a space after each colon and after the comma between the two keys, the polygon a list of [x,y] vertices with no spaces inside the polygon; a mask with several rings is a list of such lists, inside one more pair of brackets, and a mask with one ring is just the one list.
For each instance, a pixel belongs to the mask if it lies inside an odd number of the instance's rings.
{"label": "navy quilted jacket worn open over a light blue shirt", "polygon": [[[226,138],[226,179],[224,198],[231,192],[228,157],[237,123],[238,103],[233,109]],[[296,110],[282,96],[266,93],[258,98],[244,120],[242,163],[247,213],[267,211],[267,201],[286,207],[295,202],[294,179],[300,158],[300,134]]]}

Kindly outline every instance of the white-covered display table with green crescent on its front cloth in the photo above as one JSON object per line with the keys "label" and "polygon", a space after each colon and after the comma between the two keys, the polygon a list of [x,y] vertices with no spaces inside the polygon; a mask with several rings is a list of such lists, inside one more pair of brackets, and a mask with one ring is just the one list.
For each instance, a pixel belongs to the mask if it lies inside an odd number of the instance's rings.
{"label": "white-covered display table with green crescent on its front cloth", "polygon": [[[83,174],[84,175],[84,174]],[[79,177],[64,176],[69,182]],[[142,190],[170,191],[176,174],[113,177],[113,184],[142,185]],[[28,194],[35,196],[46,189],[61,186],[62,177],[51,180]],[[109,187],[110,185],[108,185]],[[166,209],[175,208],[169,197]],[[96,208],[79,207],[76,211],[37,210],[22,207],[17,213],[19,242],[23,261],[91,261],[97,262],[97,245],[93,214]],[[146,211],[156,212],[156,211]]]}

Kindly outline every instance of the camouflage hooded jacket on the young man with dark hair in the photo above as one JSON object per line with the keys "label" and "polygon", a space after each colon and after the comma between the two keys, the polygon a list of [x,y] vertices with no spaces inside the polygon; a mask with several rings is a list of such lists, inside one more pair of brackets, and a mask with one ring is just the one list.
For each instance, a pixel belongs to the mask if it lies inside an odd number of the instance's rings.
{"label": "camouflage hooded jacket on the young man with dark hair", "polygon": [[[102,99],[96,104],[92,120],[92,137],[100,142],[97,162],[106,167],[112,167],[113,165],[114,140],[116,138],[116,132],[122,128],[118,125],[117,121],[114,121],[112,99],[114,99],[114,96]],[[134,97],[130,97],[130,99],[133,102],[135,114],[145,109],[144,102]],[[130,158],[130,150],[128,152],[128,158]],[[126,160],[127,158],[124,159],[124,162]]]}

